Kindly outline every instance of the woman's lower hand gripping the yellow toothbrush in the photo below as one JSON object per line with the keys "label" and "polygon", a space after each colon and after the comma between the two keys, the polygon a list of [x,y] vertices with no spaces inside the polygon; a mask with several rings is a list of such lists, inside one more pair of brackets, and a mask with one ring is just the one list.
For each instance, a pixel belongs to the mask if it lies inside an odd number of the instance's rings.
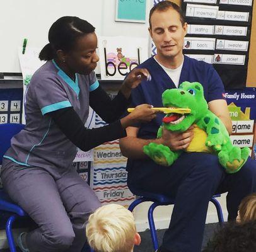
{"label": "woman's lower hand gripping the yellow toothbrush", "polygon": [[121,119],[121,124],[124,128],[134,125],[138,122],[150,122],[156,118],[157,111],[152,109],[151,105],[142,104],[136,106],[133,112]]}

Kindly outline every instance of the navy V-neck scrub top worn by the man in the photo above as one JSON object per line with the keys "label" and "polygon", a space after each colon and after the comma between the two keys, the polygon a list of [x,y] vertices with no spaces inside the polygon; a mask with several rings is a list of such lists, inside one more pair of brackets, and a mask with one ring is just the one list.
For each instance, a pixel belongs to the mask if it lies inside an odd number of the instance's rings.
{"label": "navy V-neck scrub top worn by the man", "polygon": [[[176,88],[175,84],[153,57],[143,62],[139,67],[148,69],[152,79],[151,81],[142,81],[137,88],[132,90],[132,106],[135,107],[147,103],[154,107],[162,107],[161,96],[163,91]],[[191,59],[184,55],[179,84],[183,83],[183,81],[201,83],[204,87],[204,97],[207,102],[224,99],[223,83],[211,64]],[[137,125],[139,127],[138,137],[143,139],[155,139],[156,132],[164,116],[163,113],[159,113],[151,122]]]}

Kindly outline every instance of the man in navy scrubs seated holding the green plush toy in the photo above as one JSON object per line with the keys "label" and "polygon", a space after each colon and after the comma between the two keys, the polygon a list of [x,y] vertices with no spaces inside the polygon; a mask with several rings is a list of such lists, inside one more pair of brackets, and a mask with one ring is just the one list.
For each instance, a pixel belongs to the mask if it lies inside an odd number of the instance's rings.
{"label": "man in navy scrubs seated holding the green plush toy", "polygon": [[[221,118],[231,133],[224,86],[218,73],[210,64],[182,53],[187,23],[180,8],[170,1],[156,4],[149,14],[149,33],[158,53],[139,67],[148,69],[152,79],[134,89],[132,105],[148,103],[161,107],[165,89],[178,88],[183,81],[198,81],[204,87],[209,110]],[[120,140],[122,153],[129,157],[127,183],[133,188],[175,197],[172,220],[158,251],[199,252],[209,199],[216,193],[228,192],[228,219],[235,220],[241,199],[256,190],[255,161],[249,158],[233,175],[225,173],[218,156],[202,152],[183,152],[172,166],[160,166],[148,159],[143,146],[156,142],[177,151],[188,147],[193,137],[190,127],[178,134],[164,130],[161,139],[156,139],[163,116],[158,114],[149,123],[127,128],[127,137]]]}

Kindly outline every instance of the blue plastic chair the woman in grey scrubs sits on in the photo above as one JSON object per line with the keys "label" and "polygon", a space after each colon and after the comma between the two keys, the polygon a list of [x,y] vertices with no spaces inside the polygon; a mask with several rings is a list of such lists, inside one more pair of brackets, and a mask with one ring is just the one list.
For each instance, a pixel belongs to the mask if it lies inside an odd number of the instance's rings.
{"label": "blue plastic chair the woman in grey scrubs sits on", "polygon": [[[2,164],[4,153],[11,145],[11,138],[24,129],[24,127],[25,125],[20,123],[0,124],[0,164]],[[6,236],[10,251],[16,252],[12,231],[13,222],[18,216],[24,217],[28,215],[9,198],[3,188],[0,189],[0,212],[8,212],[9,214],[8,221],[6,222]]]}

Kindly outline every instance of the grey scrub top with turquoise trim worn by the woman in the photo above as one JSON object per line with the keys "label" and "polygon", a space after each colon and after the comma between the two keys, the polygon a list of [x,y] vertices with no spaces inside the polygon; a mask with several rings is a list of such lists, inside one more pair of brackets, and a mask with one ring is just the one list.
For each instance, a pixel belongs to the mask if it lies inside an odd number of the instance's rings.
{"label": "grey scrub top with turquoise trim worn by the woman", "polygon": [[95,72],[76,74],[73,81],[54,60],[47,61],[33,74],[26,90],[25,129],[13,137],[4,157],[28,168],[69,168],[77,148],[48,113],[72,106],[85,123],[90,91],[98,86]]}

